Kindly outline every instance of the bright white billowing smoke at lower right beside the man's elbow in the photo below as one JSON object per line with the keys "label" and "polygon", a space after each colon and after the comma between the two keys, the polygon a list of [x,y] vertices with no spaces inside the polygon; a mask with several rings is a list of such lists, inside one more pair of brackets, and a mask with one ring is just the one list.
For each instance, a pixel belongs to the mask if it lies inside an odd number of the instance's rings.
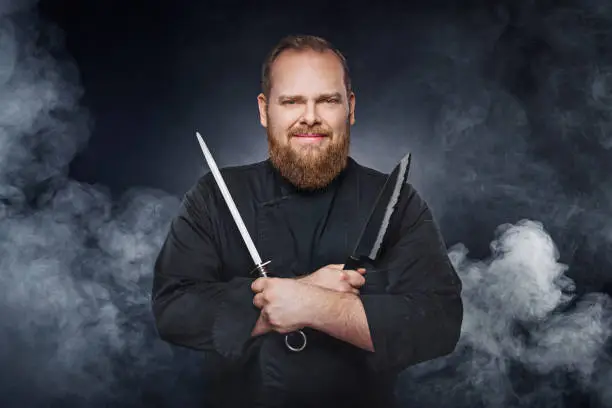
{"label": "bright white billowing smoke at lower right beside the man's elbow", "polygon": [[[451,248],[465,306],[459,345],[447,357],[407,370],[401,393],[423,406],[554,407],[563,404],[564,391],[581,391],[610,406],[601,383],[612,372],[610,298],[592,293],[570,305],[573,281],[540,223],[503,225],[497,234],[485,261],[470,260],[463,245]],[[516,389],[516,367],[530,376],[530,390]],[[559,375],[575,383],[555,385]],[[433,392],[440,379],[453,395],[442,405]]]}

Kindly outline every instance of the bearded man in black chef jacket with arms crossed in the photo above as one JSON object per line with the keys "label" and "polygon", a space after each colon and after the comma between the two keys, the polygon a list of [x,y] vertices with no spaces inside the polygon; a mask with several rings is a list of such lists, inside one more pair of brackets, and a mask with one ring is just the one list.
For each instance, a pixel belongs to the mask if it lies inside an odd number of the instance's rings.
{"label": "bearded man in black chef jacket with arms crossed", "polygon": [[[204,175],[155,263],[159,335],[205,352],[207,406],[395,407],[402,370],[454,350],[461,281],[409,183],[376,265],[343,270],[387,175],[349,155],[355,94],[340,51],[286,37],[264,62],[262,88],[269,157],[221,173],[272,276],[250,275],[239,230]],[[308,346],[294,352],[284,334],[298,329]]]}

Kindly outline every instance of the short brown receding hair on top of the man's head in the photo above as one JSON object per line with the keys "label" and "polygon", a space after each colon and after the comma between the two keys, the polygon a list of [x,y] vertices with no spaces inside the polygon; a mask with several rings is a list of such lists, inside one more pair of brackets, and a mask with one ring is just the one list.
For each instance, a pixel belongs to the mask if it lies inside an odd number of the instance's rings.
{"label": "short brown receding hair on top of the man's head", "polygon": [[340,59],[342,68],[344,70],[344,86],[346,87],[346,93],[351,92],[351,76],[349,74],[348,64],[344,55],[334,47],[329,41],[324,38],[317,37],[314,35],[289,35],[282,38],[278,44],[270,51],[266,60],[263,63],[261,70],[261,88],[266,99],[270,96],[270,90],[272,89],[272,81],[270,78],[270,71],[272,64],[278,56],[285,50],[295,51],[306,51],[312,50],[317,52],[332,51]]}

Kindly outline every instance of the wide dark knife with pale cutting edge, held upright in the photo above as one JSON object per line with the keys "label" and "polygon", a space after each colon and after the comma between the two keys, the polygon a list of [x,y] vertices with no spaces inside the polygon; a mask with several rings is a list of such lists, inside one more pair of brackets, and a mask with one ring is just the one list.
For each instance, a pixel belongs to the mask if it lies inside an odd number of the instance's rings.
{"label": "wide dark knife with pale cutting edge, held upright", "polygon": [[355,249],[344,263],[344,270],[357,270],[366,263],[373,263],[378,257],[389,221],[408,179],[411,157],[411,154],[407,153],[387,177],[370,210]]}

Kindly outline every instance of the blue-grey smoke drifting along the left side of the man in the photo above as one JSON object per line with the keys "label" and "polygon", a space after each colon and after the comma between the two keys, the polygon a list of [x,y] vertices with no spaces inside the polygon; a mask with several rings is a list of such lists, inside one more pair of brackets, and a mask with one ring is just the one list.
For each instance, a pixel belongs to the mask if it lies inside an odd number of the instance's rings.
{"label": "blue-grey smoke drifting along the left side of the man", "polygon": [[170,364],[152,341],[149,292],[179,199],[133,189],[115,203],[67,178],[89,137],[77,70],[51,55],[61,33],[18,3],[0,6],[2,394],[103,404],[122,380]]}

